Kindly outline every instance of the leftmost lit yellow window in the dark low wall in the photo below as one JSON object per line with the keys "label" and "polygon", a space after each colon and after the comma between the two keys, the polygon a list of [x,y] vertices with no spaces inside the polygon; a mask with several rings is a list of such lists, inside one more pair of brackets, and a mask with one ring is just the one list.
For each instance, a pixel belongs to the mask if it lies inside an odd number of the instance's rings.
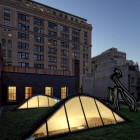
{"label": "leftmost lit yellow window in the dark low wall", "polygon": [[15,86],[8,87],[8,101],[16,101],[16,87]]}

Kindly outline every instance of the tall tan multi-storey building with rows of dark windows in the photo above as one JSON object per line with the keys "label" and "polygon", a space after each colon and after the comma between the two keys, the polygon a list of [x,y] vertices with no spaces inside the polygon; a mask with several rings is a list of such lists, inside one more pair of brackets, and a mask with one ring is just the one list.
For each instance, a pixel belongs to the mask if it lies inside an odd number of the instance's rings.
{"label": "tall tan multi-storey building with rows of dark windows", "polygon": [[76,90],[91,72],[87,20],[32,0],[0,1],[3,64],[70,71]]}

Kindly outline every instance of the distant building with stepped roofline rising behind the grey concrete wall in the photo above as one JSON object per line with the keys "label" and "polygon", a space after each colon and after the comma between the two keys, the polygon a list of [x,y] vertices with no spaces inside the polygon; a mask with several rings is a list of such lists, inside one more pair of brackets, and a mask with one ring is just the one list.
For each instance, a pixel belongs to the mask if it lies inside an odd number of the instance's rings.
{"label": "distant building with stepped roofline rising behind the grey concrete wall", "polygon": [[91,69],[92,72],[97,68],[97,66],[107,60],[116,60],[116,65],[123,65],[126,64],[126,53],[120,52],[117,50],[117,48],[110,48],[104,52],[102,52],[100,55],[95,56],[92,58],[91,62]]}

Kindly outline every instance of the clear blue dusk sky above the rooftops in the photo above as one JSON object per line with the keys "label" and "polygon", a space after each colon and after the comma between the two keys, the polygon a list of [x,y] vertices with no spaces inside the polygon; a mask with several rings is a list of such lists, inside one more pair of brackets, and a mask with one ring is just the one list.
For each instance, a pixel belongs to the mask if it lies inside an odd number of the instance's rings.
{"label": "clear blue dusk sky above the rooftops", "polygon": [[109,48],[140,65],[140,0],[34,0],[87,19],[92,24],[92,57]]}

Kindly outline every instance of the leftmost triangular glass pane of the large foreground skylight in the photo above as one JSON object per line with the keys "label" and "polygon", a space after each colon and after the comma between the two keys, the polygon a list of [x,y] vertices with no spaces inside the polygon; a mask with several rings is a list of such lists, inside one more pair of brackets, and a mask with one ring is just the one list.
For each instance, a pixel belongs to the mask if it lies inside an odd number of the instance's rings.
{"label": "leftmost triangular glass pane of the large foreground skylight", "polygon": [[47,136],[46,123],[44,123],[44,124],[32,135],[32,137],[35,137],[35,138],[40,138],[40,137],[45,137],[45,136]]}

